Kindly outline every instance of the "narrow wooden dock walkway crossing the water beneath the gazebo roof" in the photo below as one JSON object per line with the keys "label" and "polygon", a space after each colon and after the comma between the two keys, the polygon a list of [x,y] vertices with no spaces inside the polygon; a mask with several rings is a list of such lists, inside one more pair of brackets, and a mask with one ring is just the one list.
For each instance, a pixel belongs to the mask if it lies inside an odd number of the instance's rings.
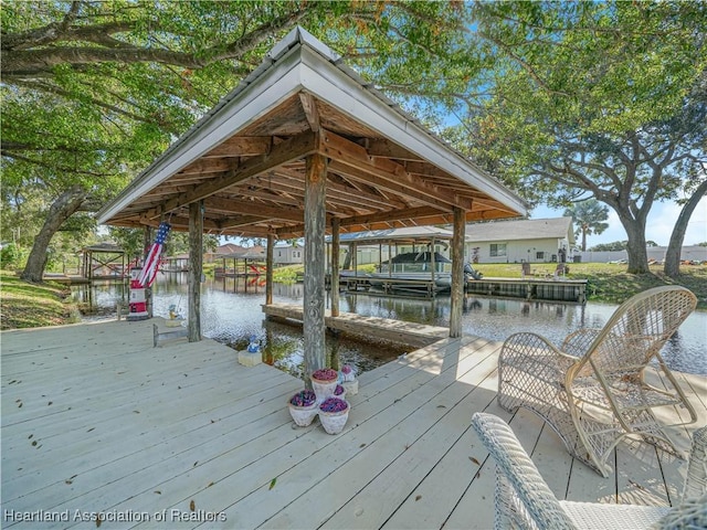
{"label": "narrow wooden dock walkway crossing the water beneath the gazebo roof", "polygon": [[[303,309],[297,304],[263,305],[263,312],[268,317],[276,317],[302,322]],[[449,328],[428,326],[424,324],[405,322],[390,318],[365,317],[355,312],[341,312],[333,317],[326,309],[324,321],[327,328],[347,333],[374,337],[400,344],[422,348],[440,339],[449,337]]]}

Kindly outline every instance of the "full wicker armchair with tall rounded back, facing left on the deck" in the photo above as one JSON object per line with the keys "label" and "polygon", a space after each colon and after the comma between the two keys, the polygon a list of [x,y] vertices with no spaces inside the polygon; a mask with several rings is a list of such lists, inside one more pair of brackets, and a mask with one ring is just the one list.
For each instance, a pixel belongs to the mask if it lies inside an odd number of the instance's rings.
{"label": "full wicker armchair with tall rounded back, facing left on the deck", "polygon": [[[570,454],[604,477],[612,451],[630,434],[683,457],[652,409],[684,407],[689,420],[673,425],[697,420],[658,353],[696,305],[684,287],[656,287],[622,304],[602,329],[581,329],[559,349],[539,335],[513,335],[498,359],[498,403],[540,415]],[[644,381],[653,361],[665,388]]]}

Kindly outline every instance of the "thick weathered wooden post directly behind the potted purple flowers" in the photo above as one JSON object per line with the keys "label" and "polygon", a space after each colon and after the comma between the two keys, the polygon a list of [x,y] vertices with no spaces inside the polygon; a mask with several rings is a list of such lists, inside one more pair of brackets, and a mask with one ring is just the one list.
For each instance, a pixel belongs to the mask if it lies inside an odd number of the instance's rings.
{"label": "thick weathered wooden post directly behind the potted purple flowers", "polygon": [[304,361],[305,383],[315,370],[326,368],[325,346],[325,227],[327,159],[307,157],[305,176],[305,282]]}

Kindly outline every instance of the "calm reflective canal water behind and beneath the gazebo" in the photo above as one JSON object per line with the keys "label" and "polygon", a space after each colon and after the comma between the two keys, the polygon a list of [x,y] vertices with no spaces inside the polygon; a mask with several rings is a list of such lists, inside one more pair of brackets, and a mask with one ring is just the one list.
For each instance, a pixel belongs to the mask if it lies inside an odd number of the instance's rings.
{"label": "calm reflective canal water behind and beneath the gazebo", "polygon": [[[96,283],[93,287],[75,287],[75,296],[88,301],[98,312],[115,311],[116,301],[128,298],[126,287],[115,283]],[[154,314],[167,317],[170,306],[188,317],[187,276],[159,274],[152,286]],[[302,284],[275,284],[273,301],[302,304]],[[261,305],[265,301],[264,278],[207,279],[201,294],[201,331],[205,337],[224,342],[235,350],[245,349],[255,336],[265,362],[302,377],[303,335],[300,326],[265,320]],[[327,307],[329,300],[327,298]],[[534,331],[560,344],[570,332],[599,328],[611,317],[615,305],[585,305],[526,301],[466,295],[463,305],[464,335],[505,340],[509,335]],[[449,326],[450,298],[392,298],[370,294],[341,293],[340,310],[365,316]],[[371,370],[410,351],[384,341],[361,340],[347,336],[327,336],[327,354],[335,363],[349,363],[359,372]],[[668,341],[662,356],[672,370],[707,374],[707,312],[695,311]]]}

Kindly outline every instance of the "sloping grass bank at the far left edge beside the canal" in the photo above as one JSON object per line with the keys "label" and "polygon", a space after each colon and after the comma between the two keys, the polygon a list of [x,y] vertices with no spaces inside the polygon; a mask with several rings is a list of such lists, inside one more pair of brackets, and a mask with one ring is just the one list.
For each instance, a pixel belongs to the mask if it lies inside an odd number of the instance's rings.
{"label": "sloping grass bank at the far left edge beside the canal", "polygon": [[29,284],[11,271],[0,271],[0,329],[60,326],[80,321],[73,304],[64,301],[68,288]]}

